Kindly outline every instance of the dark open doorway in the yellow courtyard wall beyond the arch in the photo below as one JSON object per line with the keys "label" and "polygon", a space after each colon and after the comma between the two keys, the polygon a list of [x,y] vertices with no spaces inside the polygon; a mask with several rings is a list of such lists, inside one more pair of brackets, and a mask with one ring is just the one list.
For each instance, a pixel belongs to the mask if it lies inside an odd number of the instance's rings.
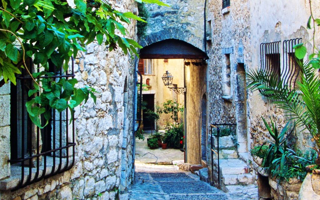
{"label": "dark open doorway in the yellow courtyard wall beyond the arch", "polygon": [[143,130],[144,131],[154,131],[155,121],[148,118],[147,110],[155,111],[155,95],[154,94],[143,94],[142,100],[147,103],[146,109],[143,109]]}

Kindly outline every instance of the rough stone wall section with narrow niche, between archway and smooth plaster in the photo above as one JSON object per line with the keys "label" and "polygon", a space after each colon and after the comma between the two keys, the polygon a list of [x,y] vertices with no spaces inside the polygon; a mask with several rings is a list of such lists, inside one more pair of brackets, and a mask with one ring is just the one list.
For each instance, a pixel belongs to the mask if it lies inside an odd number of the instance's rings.
{"label": "rough stone wall section with narrow niche, between archway and smooth plaster", "polygon": [[[221,1],[209,1],[206,20],[211,20],[207,27],[208,33],[211,35],[211,40],[207,42],[209,124],[233,124],[247,116],[245,110],[237,108],[239,106],[237,101],[244,93],[237,92],[236,83],[239,80],[237,63],[244,63],[246,69],[251,67],[251,52],[248,48],[251,40],[248,1],[231,1],[231,6],[223,11]],[[228,70],[226,54],[230,59],[230,69]],[[224,77],[227,76],[230,76],[229,96],[225,91]],[[245,106],[245,102],[239,103]],[[242,135],[242,145],[241,149],[238,145],[238,150],[246,152],[245,127],[242,134],[244,134]],[[239,135],[238,130],[237,135]],[[211,137],[208,133],[208,144],[210,141]],[[207,151],[207,155],[211,155],[211,152]],[[211,163],[211,156],[207,156],[207,162]],[[208,165],[208,168],[209,174],[212,174],[211,165]]]}

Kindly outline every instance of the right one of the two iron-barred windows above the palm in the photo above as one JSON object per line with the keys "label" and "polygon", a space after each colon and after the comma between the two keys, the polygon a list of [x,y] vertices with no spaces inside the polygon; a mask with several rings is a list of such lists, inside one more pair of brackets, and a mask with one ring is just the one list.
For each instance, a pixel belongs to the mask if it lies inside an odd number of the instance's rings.
{"label": "right one of the two iron-barred windows above the palm", "polygon": [[[295,38],[291,40],[284,40],[283,42],[283,63],[284,63],[284,84],[292,89],[297,89],[296,84],[301,80],[300,78],[300,66],[294,55],[293,46],[302,43],[302,38]],[[303,62],[302,60],[300,60]]]}

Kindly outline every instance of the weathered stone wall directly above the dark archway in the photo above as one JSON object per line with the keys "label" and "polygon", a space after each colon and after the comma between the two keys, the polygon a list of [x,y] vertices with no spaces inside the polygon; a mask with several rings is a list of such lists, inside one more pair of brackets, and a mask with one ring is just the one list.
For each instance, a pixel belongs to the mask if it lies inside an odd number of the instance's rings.
{"label": "weathered stone wall directly above the dark archway", "polygon": [[170,7],[148,4],[147,36],[142,46],[165,40],[179,39],[204,51],[204,1],[163,0]]}

